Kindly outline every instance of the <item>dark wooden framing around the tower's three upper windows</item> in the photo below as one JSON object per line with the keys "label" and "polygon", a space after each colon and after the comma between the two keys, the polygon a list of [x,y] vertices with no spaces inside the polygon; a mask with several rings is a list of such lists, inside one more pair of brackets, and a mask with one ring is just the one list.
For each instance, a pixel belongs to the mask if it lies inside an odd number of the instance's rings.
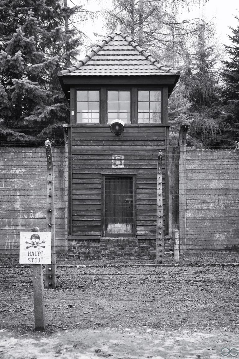
{"label": "dark wooden framing around the tower's three upper windows", "polygon": [[[77,91],[99,91],[100,97],[100,122],[99,123],[93,123],[93,125],[109,125],[107,123],[107,91],[108,90],[125,90],[130,91],[130,119],[131,122],[127,123],[128,125],[139,125],[139,126],[156,126],[158,125],[164,125],[167,124],[167,114],[168,114],[168,86],[156,86],[152,85],[149,86],[148,84],[143,85],[122,85],[122,84],[116,84],[116,85],[95,85],[95,86],[89,86],[89,85],[82,85],[82,86],[76,86],[70,88],[70,123],[71,125],[92,125],[91,123],[77,123],[76,122],[76,107],[77,107],[77,101],[76,101],[76,92]],[[161,91],[161,123],[159,122],[139,122],[138,123],[138,91]],[[73,111],[73,115],[72,115]]]}

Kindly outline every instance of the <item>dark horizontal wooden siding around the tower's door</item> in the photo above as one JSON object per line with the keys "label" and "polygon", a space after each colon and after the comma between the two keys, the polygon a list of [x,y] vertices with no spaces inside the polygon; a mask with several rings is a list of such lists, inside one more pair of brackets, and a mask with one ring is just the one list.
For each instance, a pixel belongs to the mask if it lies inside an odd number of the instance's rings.
{"label": "dark horizontal wooden siding around the tower's door", "polygon": [[[156,174],[158,152],[163,152],[163,205],[165,218],[166,127],[126,126],[123,137],[109,126],[71,127],[70,215],[72,236],[101,235],[101,174],[136,175],[136,235],[156,239]],[[112,156],[124,155],[124,168],[112,168]]]}

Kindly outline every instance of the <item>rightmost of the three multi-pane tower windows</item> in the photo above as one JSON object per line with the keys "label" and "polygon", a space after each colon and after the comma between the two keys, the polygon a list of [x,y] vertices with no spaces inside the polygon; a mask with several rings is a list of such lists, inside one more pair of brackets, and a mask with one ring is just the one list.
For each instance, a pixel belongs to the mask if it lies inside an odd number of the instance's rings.
{"label": "rightmost of the three multi-pane tower windows", "polygon": [[161,123],[161,91],[138,92],[138,123]]}

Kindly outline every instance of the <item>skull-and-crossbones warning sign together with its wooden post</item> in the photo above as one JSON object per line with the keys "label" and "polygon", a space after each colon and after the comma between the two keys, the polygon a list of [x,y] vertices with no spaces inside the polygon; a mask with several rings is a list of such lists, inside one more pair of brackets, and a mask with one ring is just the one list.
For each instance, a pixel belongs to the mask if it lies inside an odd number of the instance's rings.
{"label": "skull-and-crossbones warning sign together with its wooden post", "polygon": [[35,330],[44,330],[46,321],[42,264],[51,263],[51,233],[39,232],[38,227],[34,227],[32,232],[20,232],[19,263],[33,265]]}

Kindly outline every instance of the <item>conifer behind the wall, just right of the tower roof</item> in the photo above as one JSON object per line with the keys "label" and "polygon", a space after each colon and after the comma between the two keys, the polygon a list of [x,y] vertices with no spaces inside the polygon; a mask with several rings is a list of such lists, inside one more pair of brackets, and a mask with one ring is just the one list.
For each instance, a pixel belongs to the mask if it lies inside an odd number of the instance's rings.
{"label": "conifer behind the wall, just right of the tower roof", "polygon": [[[178,122],[185,119],[190,122],[188,145],[197,148],[220,146],[221,136],[228,127],[223,121],[223,109],[219,103],[218,70],[214,66],[221,57],[221,51],[218,50],[220,46],[214,34],[213,24],[207,23],[202,17],[189,47],[191,53],[185,53],[183,73],[178,85],[181,97],[188,103],[178,106],[182,112],[176,111],[177,116],[172,118],[175,133]],[[172,116],[171,112],[170,106],[169,114]]]}

